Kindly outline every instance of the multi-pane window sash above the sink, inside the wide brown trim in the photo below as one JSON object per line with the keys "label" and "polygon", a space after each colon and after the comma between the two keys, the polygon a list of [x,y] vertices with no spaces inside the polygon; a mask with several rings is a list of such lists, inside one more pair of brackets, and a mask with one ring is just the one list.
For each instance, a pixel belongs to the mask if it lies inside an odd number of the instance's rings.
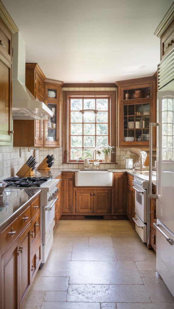
{"label": "multi-pane window sash above the sink, inside the wide brown trim", "polygon": [[[69,98],[69,161],[93,158],[94,149],[110,144],[110,97]],[[103,159],[103,153],[96,156]]]}

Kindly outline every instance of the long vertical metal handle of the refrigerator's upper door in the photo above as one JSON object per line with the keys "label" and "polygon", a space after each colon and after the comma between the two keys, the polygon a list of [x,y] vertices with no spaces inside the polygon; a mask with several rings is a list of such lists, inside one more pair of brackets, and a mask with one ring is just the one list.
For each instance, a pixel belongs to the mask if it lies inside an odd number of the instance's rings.
{"label": "long vertical metal handle of the refrigerator's upper door", "polygon": [[149,197],[150,198],[159,198],[158,194],[152,194],[152,142],[153,142],[153,134],[152,128],[158,127],[159,122],[150,122],[150,139],[149,139]]}

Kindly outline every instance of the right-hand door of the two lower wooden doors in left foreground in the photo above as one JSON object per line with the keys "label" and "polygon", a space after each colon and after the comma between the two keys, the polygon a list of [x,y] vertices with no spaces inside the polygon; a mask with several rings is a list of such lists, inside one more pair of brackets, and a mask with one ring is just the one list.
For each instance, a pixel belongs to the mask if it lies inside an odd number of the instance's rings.
{"label": "right-hand door of the two lower wooden doors in left foreground", "polygon": [[19,237],[19,301],[20,304],[30,285],[30,225]]}

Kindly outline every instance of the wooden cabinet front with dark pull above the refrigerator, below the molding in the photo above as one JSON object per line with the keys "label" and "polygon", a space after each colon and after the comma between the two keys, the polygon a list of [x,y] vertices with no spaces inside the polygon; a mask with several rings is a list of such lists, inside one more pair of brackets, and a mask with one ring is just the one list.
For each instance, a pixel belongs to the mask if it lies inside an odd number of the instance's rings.
{"label": "wooden cabinet front with dark pull above the refrigerator, below the molding", "polygon": [[168,28],[167,32],[161,39],[161,60],[173,49],[174,47],[174,23]]}

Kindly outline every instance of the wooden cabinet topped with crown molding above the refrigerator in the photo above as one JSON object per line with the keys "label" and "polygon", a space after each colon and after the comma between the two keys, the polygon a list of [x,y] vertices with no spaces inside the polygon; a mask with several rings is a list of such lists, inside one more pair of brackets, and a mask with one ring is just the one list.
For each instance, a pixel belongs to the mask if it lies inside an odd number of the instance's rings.
{"label": "wooden cabinet topped with crown molding above the refrigerator", "polygon": [[174,2],[154,32],[161,40],[161,60],[174,48]]}

